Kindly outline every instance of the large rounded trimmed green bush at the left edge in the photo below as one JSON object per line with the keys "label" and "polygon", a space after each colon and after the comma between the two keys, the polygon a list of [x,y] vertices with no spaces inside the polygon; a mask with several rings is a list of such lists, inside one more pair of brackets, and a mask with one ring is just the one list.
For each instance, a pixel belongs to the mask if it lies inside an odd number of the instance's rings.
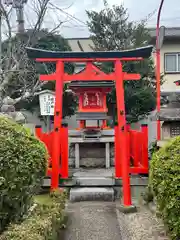
{"label": "large rounded trimmed green bush at the left edge", "polygon": [[47,151],[28,129],[0,117],[0,232],[31,205],[47,166]]}

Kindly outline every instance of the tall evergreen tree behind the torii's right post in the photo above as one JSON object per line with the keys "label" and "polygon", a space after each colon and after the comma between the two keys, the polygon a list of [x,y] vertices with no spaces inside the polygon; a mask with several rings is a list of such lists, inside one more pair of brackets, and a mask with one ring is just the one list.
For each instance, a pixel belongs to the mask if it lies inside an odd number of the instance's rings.
{"label": "tall evergreen tree behind the torii's right post", "polygon": [[[113,5],[112,8],[104,1],[104,9],[100,12],[87,11],[88,27],[94,43],[95,51],[125,50],[146,46],[150,40],[146,20],[132,22],[129,20],[127,9],[123,5]],[[113,70],[112,63],[102,65],[105,72]],[[124,71],[140,73],[139,81],[126,81],[125,105],[127,120],[137,121],[154,110],[155,101],[155,69],[153,60],[125,63]],[[109,109],[116,105],[116,91],[108,96]]]}

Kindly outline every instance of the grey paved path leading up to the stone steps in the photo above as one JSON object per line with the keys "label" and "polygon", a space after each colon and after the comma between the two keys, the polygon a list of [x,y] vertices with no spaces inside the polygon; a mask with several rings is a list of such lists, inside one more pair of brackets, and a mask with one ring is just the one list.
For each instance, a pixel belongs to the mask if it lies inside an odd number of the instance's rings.
{"label": "grey paved path leading up to the stone steps", "polygon": [[76,202],[68,206],[64,240],[122,240],[114,202]]}

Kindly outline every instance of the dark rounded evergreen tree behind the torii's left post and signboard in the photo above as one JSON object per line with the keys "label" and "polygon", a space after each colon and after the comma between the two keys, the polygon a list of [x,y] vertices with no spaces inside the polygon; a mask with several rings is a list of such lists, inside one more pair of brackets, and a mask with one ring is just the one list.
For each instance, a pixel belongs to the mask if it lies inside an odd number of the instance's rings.
{"label": "dark rounded evergreen tree behind the torii's left post and signboard", "polygon": [[[32,30],[28,30],[23,36],[21,35],[21,42],[27,42]],[[38,37],[42,36],[42,37]],[[48,33],[47,30],[41,30],[34,35],[34,39],[37,38],[37,42],[32,45],[35,48],[45,50],[59,50],[59,51],[71,51],[68,42],[60,35]],[[18,42],[18,36],[14,37],[14,44]],[[35,42],[35,41],[34,41]],[[4,42],[4,48],[6,54],[7,42]],[[23,49],[24,51],[25,49]],[[22,53],[23,54],[23,53]],[[55,64],[53,63],[36,63],[30,59],[26,59],[27,63],[22,58],[21,71],[14,72],[11,78],[8,79],[8,83],[4,87],[4,95],[10,96],[16,101],[16,109],[25,108],[27,110],[36,111],[39,109],[38,92],[41,90],[49,89],[55,90],[55,82],[40,82],[39,74],[49,74],[55,71]],[[74,72],[72,64],[65,64],[65,71],[68,73]],[[33,90],[34,89],[34,90]],[[24,92],[24,94],[23,94]],[[28,95],[29,94],[29,95]],[[68,85],[64,86],[63,93],[63,116],[70,116],[74,114],[76,107],[76,101],[72,92],[68,91]]]}

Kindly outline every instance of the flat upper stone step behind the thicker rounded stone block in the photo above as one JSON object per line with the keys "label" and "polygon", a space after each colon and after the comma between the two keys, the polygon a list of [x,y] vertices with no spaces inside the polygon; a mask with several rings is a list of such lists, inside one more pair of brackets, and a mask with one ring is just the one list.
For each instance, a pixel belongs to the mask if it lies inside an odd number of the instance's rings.
{"label": "flat upper stone step behind the thicker rounded stone block", "polygon": [[73,177],[78,186],[114,186],[115,179],[112,177]]}

